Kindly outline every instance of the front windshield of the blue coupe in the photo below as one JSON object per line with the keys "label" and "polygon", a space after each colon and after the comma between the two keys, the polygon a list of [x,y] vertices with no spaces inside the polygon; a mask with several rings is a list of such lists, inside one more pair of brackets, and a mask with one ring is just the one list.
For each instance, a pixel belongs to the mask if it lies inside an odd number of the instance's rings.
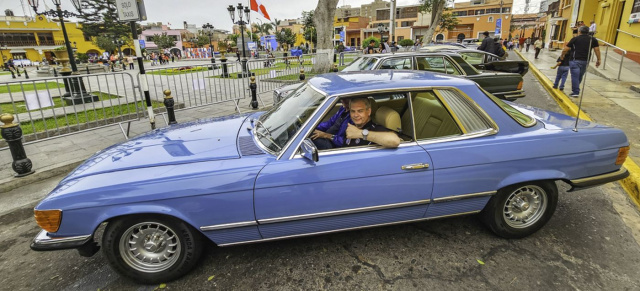
{"label": "front windshield of the blue coupe", "polygon": [[325,98],[325,95],[305,84],[254,121],[253,132],[260,143],[278,153]]}

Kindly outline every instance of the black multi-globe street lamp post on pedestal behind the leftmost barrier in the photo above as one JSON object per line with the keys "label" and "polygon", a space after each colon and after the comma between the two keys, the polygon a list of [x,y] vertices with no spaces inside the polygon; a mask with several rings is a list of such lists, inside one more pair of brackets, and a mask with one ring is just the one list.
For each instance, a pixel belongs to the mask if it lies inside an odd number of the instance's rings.
{"label": "black multi-globe street lamp post on pedestal behind the leftmost barrier", "polygon": [[[80,73],[78,73],[78,67],[76,66],[76,59],[73,55],[73,49],[71,48],[71,42],[69,42],[69,36],[67,35],[67,28],[64,25],[64,19],[63,19],[64,17],[73,17],[78,15],[75,13],[69,12],[67,10],[62,10],[62,8],[60,8],[61,0],[52,0],[53,4],[56,6],[56,9],[55,10],[51,9],[49,11],[44,11],[44,12],[38,12],[38,4],[39,4],[38,2],[40,2],[39,0],[28,0],[28,1],[29,1],[29,5],[33,7],[33,11],[36,13],[36,15],[58,17],[58,20],[60,21],[60,26],[62,27],[62,35],[64,37],[64,43],[67,49],[67,54],[69,55],[69,63],[71,64],[71,72],[68,72],[68,71],[65,72],[63,69],[60,71],[60,74],[63,76],[80,75]],[[80,9],[82,8],[81,0],[71,0],[71,3],[73,3],[73,6],[78,11],[80,11]],[[84,82],[82,81],[82,77],[69,78],[68,81],[64,83],[65,83],[65,90],[67,93],[63,95],[64,97],[63,99],[65,100],[65,103],[67,105],[89,103],[89,102],[99,100],[98,96],[92,95],[87,92],[87,90],[84,87]]]}

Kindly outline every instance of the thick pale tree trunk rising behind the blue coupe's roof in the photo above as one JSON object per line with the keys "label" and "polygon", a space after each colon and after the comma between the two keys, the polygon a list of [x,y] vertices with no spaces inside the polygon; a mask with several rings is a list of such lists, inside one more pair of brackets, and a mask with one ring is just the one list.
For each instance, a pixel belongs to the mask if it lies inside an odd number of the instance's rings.
{"label": "thick pale tree trunk rising behind the blue coupe's roof", "polygon": [[333,17],[339,0],[319,0],[313,14],[318,34],[314,72],[328,72],[333,64]]}

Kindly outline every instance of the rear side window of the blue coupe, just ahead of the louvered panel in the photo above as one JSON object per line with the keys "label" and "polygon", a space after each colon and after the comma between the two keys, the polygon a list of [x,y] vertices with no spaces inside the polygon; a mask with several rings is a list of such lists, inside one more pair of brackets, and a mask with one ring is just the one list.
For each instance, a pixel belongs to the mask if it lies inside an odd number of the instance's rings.
{"label": "rear side window of the blue coupe, just ahead of the louvered panel", "polygon": [[[424,140],[462,134],[454,118],[433,91],[412,93],[411,107],[413,116],[408,110],[402,115],[402,130],[405,135],[415,135],[417,140]],[[411,126],[412,119],[415,134]]]}

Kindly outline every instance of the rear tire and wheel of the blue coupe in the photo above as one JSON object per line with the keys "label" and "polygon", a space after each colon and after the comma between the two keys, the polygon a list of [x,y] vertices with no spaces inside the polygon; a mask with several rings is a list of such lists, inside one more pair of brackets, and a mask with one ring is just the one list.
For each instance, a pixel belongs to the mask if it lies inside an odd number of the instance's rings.
{"label": "rear tire and wheel of the blue coupe", "polygon": [[482,210],[483,222],[498,236],[523,238],[542,228],[558,204],[553,181],[535,181],[498,190]]}

